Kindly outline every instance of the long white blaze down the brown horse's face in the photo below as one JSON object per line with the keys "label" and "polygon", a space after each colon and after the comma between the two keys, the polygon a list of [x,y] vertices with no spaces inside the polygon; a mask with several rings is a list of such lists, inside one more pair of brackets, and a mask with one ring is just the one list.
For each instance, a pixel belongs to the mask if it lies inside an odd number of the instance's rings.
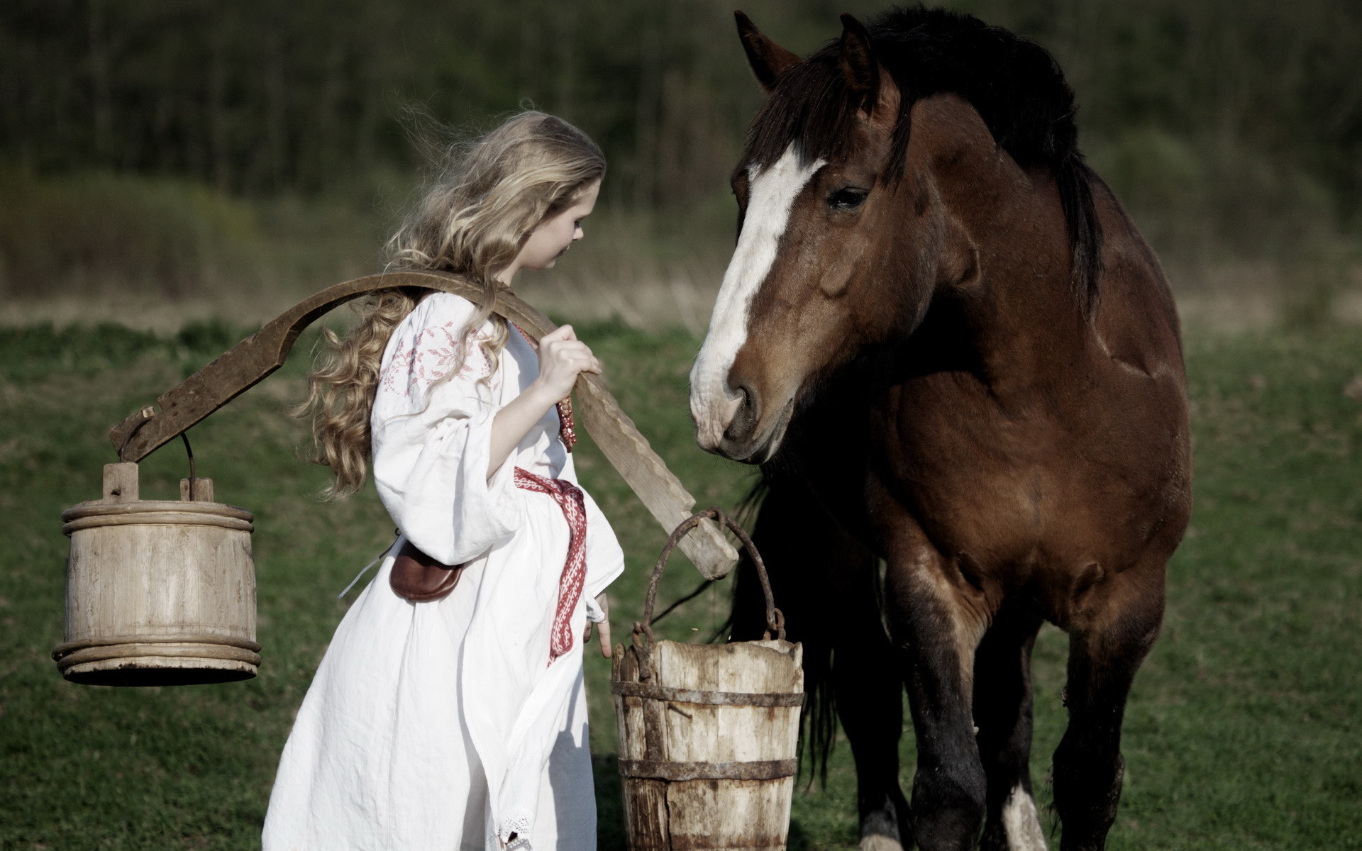
{"label": "long white blaze down the brown horse's face", "polygon": [[710,317],[710,332],[691,369],[691,415],[700,445],[712,449],[742,403],[729,387],[733,359],[748,339],[748,308],[775,263],[780,236],[790,221],[790,207],[813,173],[827,165],[817,159],[799,165],[794,144],[768,169],[750,169],[748,214],[738,245],[723,274],[723,286]]}

